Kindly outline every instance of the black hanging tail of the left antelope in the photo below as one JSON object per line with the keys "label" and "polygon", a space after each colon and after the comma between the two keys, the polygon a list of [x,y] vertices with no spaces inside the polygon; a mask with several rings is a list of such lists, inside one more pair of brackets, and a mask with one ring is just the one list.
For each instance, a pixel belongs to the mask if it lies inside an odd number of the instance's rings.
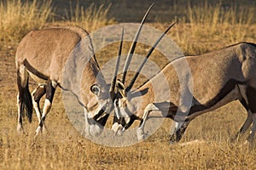
{"label": "black hanging tail of the left antelope", "polygon": [[[22,74],[22,73],[21,73]],[[24,72],[23,72],[24,74]],[[17,71],[17,84],[18,84],[18,88],[19,88],[19,98],[20,98],[20,102],[21,102],[21,115],[23,115],[24,113],[24,107],[25,107],[25,111],[26,111],[26,116],[28,118],[29,122],[32,122],[32,109],[33,109],[33,105],[32,105],[32,96],[29,92],[29,88],[28,88],[28,77],[26,80],[26,87],[22,87],[21,86],[21,77],[20,77],[20,71]]]}

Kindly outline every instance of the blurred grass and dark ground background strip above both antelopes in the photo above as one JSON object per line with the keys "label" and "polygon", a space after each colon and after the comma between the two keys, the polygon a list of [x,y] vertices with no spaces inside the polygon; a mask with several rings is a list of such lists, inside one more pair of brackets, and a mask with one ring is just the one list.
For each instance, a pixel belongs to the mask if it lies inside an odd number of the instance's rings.
{"label": "blurred grass and dark ground background strip above both antelopes", "polygon": [[[139,22],[153,2],[2,0],[0,40],[15,46],[26,32],[48,26],[76,25],[91,32],[114,23]],[[147,24],[165,30],[177,20],[169,35],[185,54],[202,54],[231,43],[253,42],[255,9],[253,0],[158,0]]]}

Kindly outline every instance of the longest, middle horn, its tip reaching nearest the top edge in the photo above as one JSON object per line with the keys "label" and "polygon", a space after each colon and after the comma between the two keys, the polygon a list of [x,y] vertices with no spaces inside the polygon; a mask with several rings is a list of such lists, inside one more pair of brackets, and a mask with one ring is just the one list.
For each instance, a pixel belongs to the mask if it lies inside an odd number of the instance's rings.
{"label": "longest, middle horn, its tip reaching nearest the top edge", "polygon": [[138,39],[138,37],[139,37],[139,35],[140,35],[140,32],[142,31],[143,24],[144,24],[144,22],[145,22],[145,20],[146,20],[146,18],[147,18],[147,16],[148,16],[148,13],[149,13],[150,9],[153,7],[153,5],[154,5],[154,3],[152,3],[152,4],[150,5],[150,7],[148,8],[148,11],[147,11],[146,14],[144,15],[143,20],[142,20],[140,26],[139,26],[138,29],[137,29],[136,36],[134,37],[133,42],[132,42],[132,44],[131,44],[131,48],[130,48],[129,53],[128,53],[128,55],[127,55],[127,58],[126,58],[126,60],[125,60],[125,66],[124,66],[123,75],[122,75],[122,78],[121,78],[121,82],[123,82],[123,83],[125,83],[126,73],[127,73],[128,67],[129,67],[129,65],[130,65],[130,63],[131,63],[131,58],[132,58],[132,56],[133,56],[133,53],[134,53],[135,48],[136,48],[136,45],[137,45],[137,39]]}

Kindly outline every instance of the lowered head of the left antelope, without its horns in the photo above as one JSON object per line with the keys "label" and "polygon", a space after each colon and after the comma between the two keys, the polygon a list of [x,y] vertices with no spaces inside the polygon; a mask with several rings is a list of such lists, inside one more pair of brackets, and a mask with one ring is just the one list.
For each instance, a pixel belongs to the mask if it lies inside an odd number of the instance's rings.
{"label": "lowered head of the left antelope, without its horns", "polygon": [[[90,62],[94,61],[91,60]],[[118,66],[116,65],[116,69]],[[107,84],[98,67],[95,67],[93,71],[84,71],[84,73],[86,74],[82,76],[81,81],[85,118],[84,133],[85,135],[97,136],[102,133],[103,127],[108,121],[109,113],[113,110],[113,96],[115,96],[113,87],[115,87],[116,80],[113,78],[111,85]]]}

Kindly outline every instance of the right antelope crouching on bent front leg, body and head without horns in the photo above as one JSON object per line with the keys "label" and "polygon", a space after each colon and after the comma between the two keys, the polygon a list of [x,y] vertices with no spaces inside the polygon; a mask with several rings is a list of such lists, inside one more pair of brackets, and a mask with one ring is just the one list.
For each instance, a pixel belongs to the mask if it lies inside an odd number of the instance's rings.
{"label": "right antelope crouching on bent front leg, body and head without horns", "polygon": [[[144,139],[144,126],[150,112],[160,111],[162,116],[175,122],[171,143],[177,142],[196,116],[238,99],[247,110],[247,119],[236,139],[252,125],[247,140],[253,143],[256,131],[256,44],[240,42],[207,54],[174,59],[140,88],[131,91],[136,79],[137,75],[127,88],[124,79],[117,82],[121,96],[114,102],[115,111],[119,116],[125,116],[125,123],[114,122],[115,133],[124,132],[132,122],[140,120],[137,136]],[[141,97],[136,97],[138,93]],[[156,99],[166,93],[168,99]]]}

